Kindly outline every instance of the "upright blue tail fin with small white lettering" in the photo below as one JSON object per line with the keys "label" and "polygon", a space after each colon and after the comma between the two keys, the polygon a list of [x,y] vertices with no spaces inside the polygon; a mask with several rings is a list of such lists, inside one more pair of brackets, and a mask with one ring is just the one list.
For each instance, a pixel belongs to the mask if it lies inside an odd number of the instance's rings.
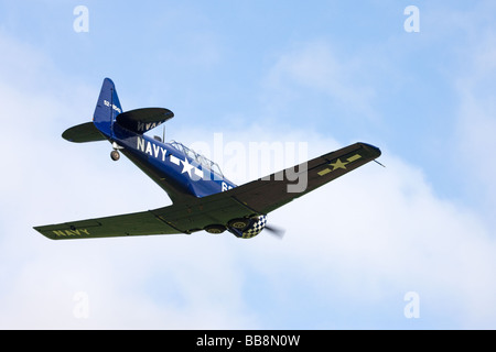
{"label": "upright blue tail fin with small white lettering", "polygon": [[116,86],[110,78],[105,78],[100,96],[93,116],[95,127],[106,136],[111,136],[116,117],[122,112]]}

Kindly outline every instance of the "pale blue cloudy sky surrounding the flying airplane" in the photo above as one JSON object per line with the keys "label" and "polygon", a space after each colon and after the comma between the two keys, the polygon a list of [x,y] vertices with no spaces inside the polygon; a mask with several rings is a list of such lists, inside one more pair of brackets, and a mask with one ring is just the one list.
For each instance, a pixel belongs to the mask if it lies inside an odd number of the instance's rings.
{"label": "pale blue cloudy sky surrounding the flying airplane", "polygon": [[[0,1],[1,329],[495,329],[494,1]],[[237,184],[357,141],[379,161],[285,229],[51,241],[171,204],[90,121],[171,109]],[[162,135],[162,129],[153,131]],[[260,145],[281,153],[257,158]],[[215,157],[214,157],[215,156]],[[267,155],[266,155],[267,156]]]}

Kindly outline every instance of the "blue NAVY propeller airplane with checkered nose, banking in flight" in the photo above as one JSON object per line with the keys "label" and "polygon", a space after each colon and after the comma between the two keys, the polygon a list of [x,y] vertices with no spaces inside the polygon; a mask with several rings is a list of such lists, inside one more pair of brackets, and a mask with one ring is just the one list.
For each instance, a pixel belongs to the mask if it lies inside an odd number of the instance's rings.
{"label": "blue NAVY propeller airplane with checkered nose, banking in flight", "polygon": [[[381,154],[378,147],[358,142],[237,186],[205,156],[179,142],[164,143],[145,134],[173,117],[164,108],[122,111],[114,81],[105,78],[93,121],[69,128],[62,136],[75,143],[109,141],[111,158],[126,155],[169,195],[172,205],[34,229],[52,240],[197,231],[217,234],[226,230],[237,238],[251,239],[263,229],[280,233],[267,223],[269,212]],[[296,187],[300,177],[304,177],[304,187]]]}

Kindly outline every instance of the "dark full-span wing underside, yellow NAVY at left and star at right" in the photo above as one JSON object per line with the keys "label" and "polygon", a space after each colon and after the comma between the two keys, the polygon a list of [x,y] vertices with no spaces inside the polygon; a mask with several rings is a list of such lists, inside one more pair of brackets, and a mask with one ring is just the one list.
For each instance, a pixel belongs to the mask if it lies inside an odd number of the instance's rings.
{"label": "dark full-span wing underside, yellow NAVY at left and star at right", "polygon": [[227,224],[235,218],[267,215],[379,156],[379,148],[356,143],[294,168],[183,204],[34,229],[54,240],[192,233],[208,224]]}

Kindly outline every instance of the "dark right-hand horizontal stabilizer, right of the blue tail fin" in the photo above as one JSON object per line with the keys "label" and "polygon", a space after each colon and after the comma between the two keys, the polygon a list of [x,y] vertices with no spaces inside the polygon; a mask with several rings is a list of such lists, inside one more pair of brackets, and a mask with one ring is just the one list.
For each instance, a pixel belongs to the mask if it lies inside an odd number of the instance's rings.
{"label": "dark right-hand horizontal stabilizer, right of the blue tail fin", "polygon": [[121,127],[136,133],[144,133],[172,119],[174,113],[163,108],[144,108],[122,112],[116,121]]}

